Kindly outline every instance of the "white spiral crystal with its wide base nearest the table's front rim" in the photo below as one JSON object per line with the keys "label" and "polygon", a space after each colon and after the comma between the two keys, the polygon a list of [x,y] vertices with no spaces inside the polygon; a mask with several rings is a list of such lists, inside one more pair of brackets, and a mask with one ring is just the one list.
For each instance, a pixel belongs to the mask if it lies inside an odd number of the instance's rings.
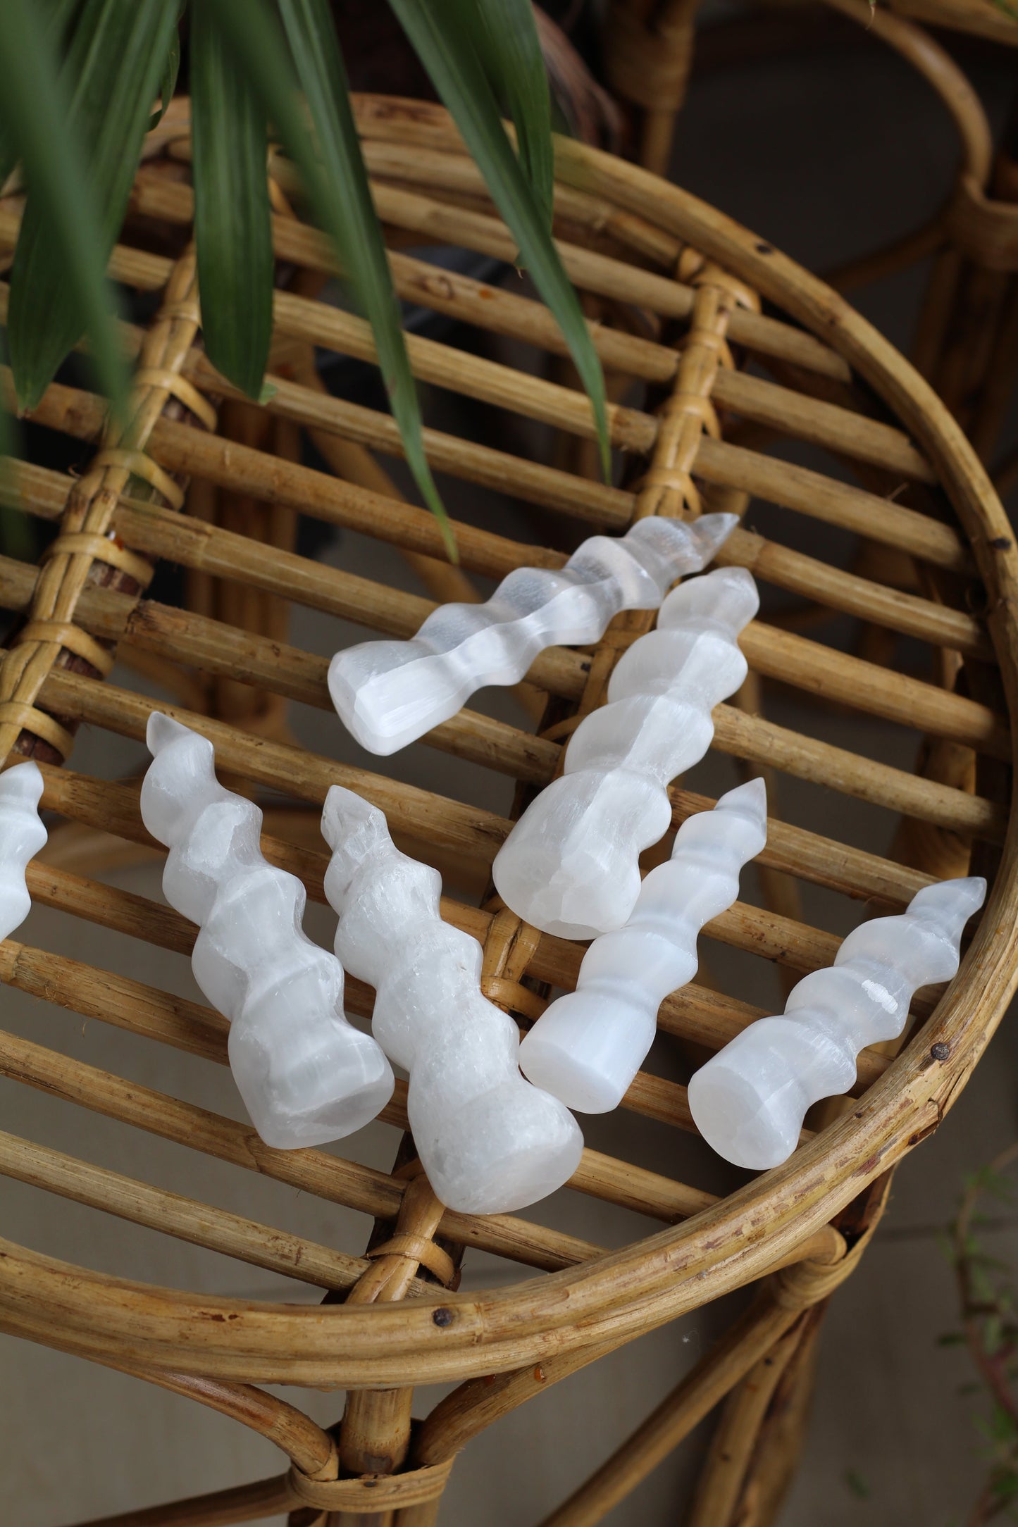
{"label": "white spiral crystal with its wide base nearest the table's front rim", "polygon": [[580,1127],[520,1077],[516,1025],[481,994],[481,945],[440,916],[441,875],[400,854],[383,814],[339,785],[322,832],[336,953],[377,991],[372,1031],[409,1073],[414,1142],[437,1196],[496,1214],[554,1193],[580,1164]]}

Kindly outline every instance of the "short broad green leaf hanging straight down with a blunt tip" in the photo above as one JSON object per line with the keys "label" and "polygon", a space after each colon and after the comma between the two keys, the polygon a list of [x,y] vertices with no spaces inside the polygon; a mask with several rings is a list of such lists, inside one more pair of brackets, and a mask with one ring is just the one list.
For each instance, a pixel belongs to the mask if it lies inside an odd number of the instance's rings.
{"label": "short broad green leaf hanging straight down with a blunt tip", "polygon": [[272,342],[266,113],[203,5],[191,17],[194,234],[201,331],[223,376],[258,399]]}

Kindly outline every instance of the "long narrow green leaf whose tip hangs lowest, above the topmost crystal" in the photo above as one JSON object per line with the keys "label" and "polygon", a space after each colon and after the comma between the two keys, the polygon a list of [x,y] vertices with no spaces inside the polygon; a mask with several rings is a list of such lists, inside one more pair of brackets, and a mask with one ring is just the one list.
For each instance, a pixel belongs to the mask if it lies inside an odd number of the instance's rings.
{"label": "long narrow green leaf whose tip hangs lowest, above the topmost crystal", "polygon": [[[237,60],[263,98],[287,151],[301,166],[311,205],[330,234],[353,293],[374,331],[382,377],[400,426],[406,458],[429,508],[437,515],[450,559],[452,530],[432,479],[421,440],[421,415],[403,342],[382,229],[374,212],[357,130],[350,110],[346,72],[325,0],[281,0],[285,40],[264,0],[205,0]],[[284,67],[288,41],[293,70]],[[307,98],[314,142],[299,107]]]}

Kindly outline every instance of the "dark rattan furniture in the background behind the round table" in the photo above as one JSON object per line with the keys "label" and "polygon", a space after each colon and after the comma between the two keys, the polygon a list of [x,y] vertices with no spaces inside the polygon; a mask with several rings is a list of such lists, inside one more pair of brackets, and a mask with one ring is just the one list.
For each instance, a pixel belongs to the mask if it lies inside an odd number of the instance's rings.
{"label": "dark rattan furniture in the background behind the round table", "polygon": [[[958,136],[955,180],[945,205],[920,228],[855,258],[827,279],[839,292],[936,257],[914,337],[917,370],[965,425],[980,458],[994,463],[1001,493],[1018,483],[1013,441],[995,463],[1018,376],[1018,98],[1003,140],[978,95],[946,47],[925,26],[975,34],[1018,47],[1018,20],[989,0],[823,0],[891,47],[936,92]],[[803,18],[815,8],[798,8]],[[821,8],[823,9],[823,8]],[[632,151],[667,174],[672,144],[694,60],[697,0],[614,0],[606,20],[604,67],[614,93],[633,116]],[[775,24],[786,6],[762,8]],[[917,24],[925,23],[923,26]],[[730,23],[739,27],[736,18]],[[801,31],[801,21],[798,23]],[[791,34],[784,31],[786,41]],[[807,34],[809,35],[809,34]],[[762,32],[752,32],[760,41]],[[766,69],[766,60],[760,63]]]}

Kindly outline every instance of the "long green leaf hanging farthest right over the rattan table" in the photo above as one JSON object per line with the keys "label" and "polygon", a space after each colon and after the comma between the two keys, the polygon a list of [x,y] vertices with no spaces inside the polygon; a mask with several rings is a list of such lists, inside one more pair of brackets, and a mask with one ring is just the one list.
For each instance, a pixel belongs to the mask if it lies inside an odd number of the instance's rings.
{"label": "long green leaf hanging farthest right over the rattan table", "polygon": [[[604,374],[572,284],[545,226],[537,197],[513,153],[484,64],[473,44],[467,17],[476,0],[389,0],[438,95],[452,113],[464,144],[479,166],[488,191],[534,286],[563,333],[586,388],[601,446],[604,476],[610,470]],[[459,23],[459,24],[458,24]]]}

